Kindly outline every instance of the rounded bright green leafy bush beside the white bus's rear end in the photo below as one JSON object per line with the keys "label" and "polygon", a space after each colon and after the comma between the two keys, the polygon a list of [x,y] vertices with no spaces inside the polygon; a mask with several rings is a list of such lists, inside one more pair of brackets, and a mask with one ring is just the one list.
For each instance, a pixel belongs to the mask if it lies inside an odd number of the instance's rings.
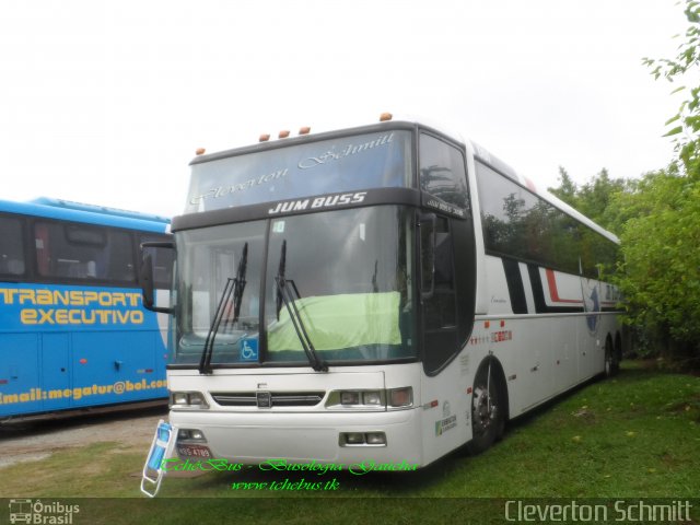
{"label": "rounded bright green leafy bush beside the white bus's rear end", "polygon": [[666,357],[700,351],[700,185],[673,171],[648,174],[621,208],[639,214],[623,226],[619,283],[631,318]]}

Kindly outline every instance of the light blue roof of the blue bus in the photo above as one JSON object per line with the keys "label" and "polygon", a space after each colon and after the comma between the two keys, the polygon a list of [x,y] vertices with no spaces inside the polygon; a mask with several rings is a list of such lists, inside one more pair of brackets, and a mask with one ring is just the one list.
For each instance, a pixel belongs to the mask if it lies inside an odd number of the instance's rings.
{"label": "light blue roof of the blue bus", "polygon": [[158,233],[166,232],[170,225],[170,219],[154,214],[82,205],[46,197],[30,202],[0,200],[0,212]]}

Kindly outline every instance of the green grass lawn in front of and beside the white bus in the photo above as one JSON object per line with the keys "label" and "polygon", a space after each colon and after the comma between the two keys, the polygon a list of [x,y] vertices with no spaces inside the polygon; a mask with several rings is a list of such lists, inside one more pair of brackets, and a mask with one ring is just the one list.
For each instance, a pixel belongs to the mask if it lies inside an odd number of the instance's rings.
{"label": "green grass lawn in front of and beside the white bus", "polygon": [[[700,493],[699,431],[700,377],[626,362],[617,378],[591,383],[516,420],[501,443],[479,456],[458,451],[418,472],[313,479],[335,479],[332,491],[231,490],[234,482],[316,477],[308,472],[166,478],[154,501],[96,500],[106,521],[91,522],[165,523],[168,516],[168,523],[187,523],[206,513],[208,523],[253,523],[265,513],[269,524],[366,523],[363,516],[381,512],[386,523],[413,523],[417,515],[502,523],[505,499],[691,499]],[[138,498],[145,453],[98,443],[5,467],[0,497]],[[493,500],[474,500],[481,498]]]}

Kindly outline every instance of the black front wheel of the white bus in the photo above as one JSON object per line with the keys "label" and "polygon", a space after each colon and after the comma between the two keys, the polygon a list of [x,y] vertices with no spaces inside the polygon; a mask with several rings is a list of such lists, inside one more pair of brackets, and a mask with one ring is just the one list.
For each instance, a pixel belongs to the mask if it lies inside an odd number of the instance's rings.
{"label": "black front wheel of the white bus", "polygon": [[471,441],[467,445],[470,454],[489,448],[503,435],[505,422],[501,410],[497,376],[488,363],[479,370],[474,382],[471,397]]}

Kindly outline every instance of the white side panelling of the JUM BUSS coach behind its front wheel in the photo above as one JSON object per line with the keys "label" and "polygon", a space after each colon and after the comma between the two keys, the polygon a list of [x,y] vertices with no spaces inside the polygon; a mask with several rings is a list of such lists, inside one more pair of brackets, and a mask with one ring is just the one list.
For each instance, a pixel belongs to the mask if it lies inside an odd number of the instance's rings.
{"label": "white side panelling of the JUM BUSS coach behind its front wheel", "polygon": [[[511,418],[604,371],[605,341],[619,330],[617,314],[599,311],[616,304],[612,287],[540,267],[546,305],[585,312],[537,314],[527,267],[520,262],[528,313],[515,315],[502,259],[485,259],[489,313],[477,316],[469,345],[476,355],[492,353],[502,364]],[[594,305],[592,295],[603,300]]]}

